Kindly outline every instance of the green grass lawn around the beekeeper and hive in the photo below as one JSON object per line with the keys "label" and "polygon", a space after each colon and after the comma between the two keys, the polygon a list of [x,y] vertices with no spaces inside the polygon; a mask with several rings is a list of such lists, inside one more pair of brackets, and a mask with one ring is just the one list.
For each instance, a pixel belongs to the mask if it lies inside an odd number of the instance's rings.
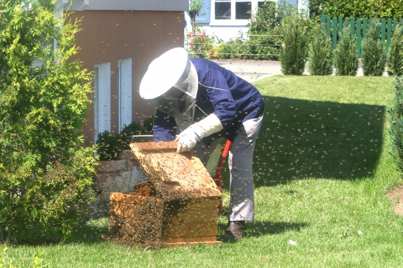
{"label": "green grass lawn around the beekeeper and hive", "polygon": [[[388,77],[274,76],[254,83],[266,103],[254,159],[256,220],[220,246],[144,250],[104,241],[108,218],[68,241],[9,246],[28,267],[403,267],[403,217],[385,191],[402,183],[390,156]],[[224,171],[224,213],[228,209]],[[227,219],[219,218],[219,234]],[[296,245],[290,245],[289,241]]]}

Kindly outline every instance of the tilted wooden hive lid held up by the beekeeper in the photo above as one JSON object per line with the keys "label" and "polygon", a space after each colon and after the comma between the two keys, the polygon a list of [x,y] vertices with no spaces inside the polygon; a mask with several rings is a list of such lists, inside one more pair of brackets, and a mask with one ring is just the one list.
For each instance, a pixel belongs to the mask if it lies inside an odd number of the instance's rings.
{"label": "tilted wooden hive lid held up by the beekeeper", "polygon": [[134,155],[148,176],[157,177],[177,190],[198,197],[219,197],[220,189],[199,158],[176,153],[177,141],[130,143]]}

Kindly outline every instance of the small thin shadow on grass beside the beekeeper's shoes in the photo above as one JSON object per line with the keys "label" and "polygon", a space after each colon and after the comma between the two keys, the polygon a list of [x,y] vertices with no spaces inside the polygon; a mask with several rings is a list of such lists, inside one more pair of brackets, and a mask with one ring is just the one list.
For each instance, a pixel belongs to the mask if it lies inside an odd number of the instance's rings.
{"label": "small thin shadow on grass beside the beekeeper's shoes", "polygon": [[[245,225],[245,232],[248,237],[260,237],[264,235],[281,234],[288,231],[300,231],[308,224],[305,222],[270,222],[270,221],[251,221]],[[218,229],[224,233],[227,224],[219,223]]]}

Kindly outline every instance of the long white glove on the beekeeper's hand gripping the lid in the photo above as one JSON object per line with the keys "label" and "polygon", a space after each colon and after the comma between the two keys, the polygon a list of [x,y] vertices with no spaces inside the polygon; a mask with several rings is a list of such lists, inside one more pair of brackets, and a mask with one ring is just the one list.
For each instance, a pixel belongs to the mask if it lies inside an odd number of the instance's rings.
{"label": "long white glove on the beekeeper's hand gripping the lid", "polygon": [[222,129],[223,125],[220,119],[218,119],[217,115],[212,113],[200,122],[190,125],[190,127],[176,136],[175,140],[178,142],[176,152],[182,153],[190,151],[196,146],[199,140],[213,133],[217,133]]}

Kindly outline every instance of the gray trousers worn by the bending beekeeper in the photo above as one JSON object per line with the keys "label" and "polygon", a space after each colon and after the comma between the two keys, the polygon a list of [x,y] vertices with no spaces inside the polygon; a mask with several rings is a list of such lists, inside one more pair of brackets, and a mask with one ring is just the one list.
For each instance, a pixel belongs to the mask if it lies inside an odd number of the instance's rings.
{"label": "gray trousers worn by the bending beekeeper", "polygon": [[[262,119],[263,115],[243,122],[242,127],[236,132],[231,143],[228,157],[230,168],[229,221],[254,220],[255,218],[252,162]],[[208,150],[206,146],[200,143],[194,148],[196,155],[204,165],[219,142],[220,139],[214,140]]]}

